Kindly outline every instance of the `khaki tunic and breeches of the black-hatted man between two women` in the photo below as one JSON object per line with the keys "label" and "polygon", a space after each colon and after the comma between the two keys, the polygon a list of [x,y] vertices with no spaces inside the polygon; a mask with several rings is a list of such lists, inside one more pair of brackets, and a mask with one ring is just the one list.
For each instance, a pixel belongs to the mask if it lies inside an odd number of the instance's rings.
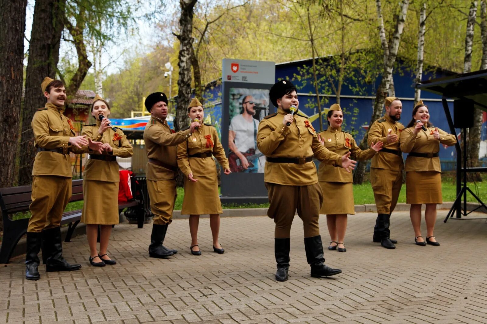
{"label": "khaki tunic and breeches of the black-hatted man between two women", "polygon": [[[166,120],[152,116],[144,129],[147,189],[154,224],[166,225],[172,221],[176,201],[177,147],[189,137],[189,129],[174,132]],[[151,162],[152,161],[152,162]]]}

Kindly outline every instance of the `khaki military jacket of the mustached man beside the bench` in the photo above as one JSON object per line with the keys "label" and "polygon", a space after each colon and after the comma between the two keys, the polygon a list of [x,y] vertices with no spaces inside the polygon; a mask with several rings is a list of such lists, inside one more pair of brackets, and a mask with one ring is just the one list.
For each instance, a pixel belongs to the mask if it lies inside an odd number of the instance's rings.
{"label": "khaki military jacket of the mustached man beside the bench", "polygon": [[63,115],[63,111],[64,107],[46,103],[44,108],[37,109],[32,118],[36,149],[61,149],[63,152],[37,152],[33,176],[73,177],[69,152],[82,153],[83,149],[69,144],[69,138],[76,136],[75,127],[71,119]]}

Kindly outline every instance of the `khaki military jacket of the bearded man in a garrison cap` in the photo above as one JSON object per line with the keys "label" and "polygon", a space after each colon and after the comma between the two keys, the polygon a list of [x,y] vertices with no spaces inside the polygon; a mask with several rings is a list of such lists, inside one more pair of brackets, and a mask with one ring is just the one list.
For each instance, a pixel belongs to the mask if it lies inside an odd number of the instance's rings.
{"label": "khaki military jacket of the bearded man in a garrison cap", "polygon": [[[382,143],[384,143],[382,149],[400,151],[399,140],[388,144],[386,136],[389,134],[389,130],[391,130],[391,134],[396,134],[397,137],[400,138],[403,129],[404,125],[399,122],[393,121],[388,114],[385,114],[384,117],[377,119],[370,127],[367,144],[371,146],[372,144],[381,141]],[[379,151],[372,158],[371,167],[401,171],[404,169],[404,161],[402,160],[402,155],[398,156],[393,153]]]}

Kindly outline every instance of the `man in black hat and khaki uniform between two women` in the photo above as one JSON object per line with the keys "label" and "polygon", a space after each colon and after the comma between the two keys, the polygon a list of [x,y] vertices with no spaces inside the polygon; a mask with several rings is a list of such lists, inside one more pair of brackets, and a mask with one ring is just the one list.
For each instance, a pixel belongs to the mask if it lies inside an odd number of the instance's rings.
{"label": "man in black hat and khaki uniform between two women", "polygon": [[147,190],[150,210],[154,214],[150,235],[149,256],[166,258],[177,253],[162,245],[168,225],[172,222],[172,211],[176,201],[177,144],[185,141],[200,126],[198,122],[184,131],[174,132],[166,121],[168,98],[163,92],[151,93],[145,106],[150,112],[150,120],[144,129],[144,142],[149,162],[146,167]]}

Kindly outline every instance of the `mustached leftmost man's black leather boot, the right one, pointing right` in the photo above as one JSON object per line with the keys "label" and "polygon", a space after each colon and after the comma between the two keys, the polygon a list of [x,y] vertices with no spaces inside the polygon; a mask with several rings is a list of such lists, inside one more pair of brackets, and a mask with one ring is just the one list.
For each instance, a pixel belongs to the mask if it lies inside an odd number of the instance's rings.
{"label": "mustached leftmost man's black leather boot, the right one, pointing right", "polygon": [[44,250],[47,253],[46,271],[74,271],[81,269],[80,264],[69,264],[62,256],[61,228],[55,227],[42,232]]}

